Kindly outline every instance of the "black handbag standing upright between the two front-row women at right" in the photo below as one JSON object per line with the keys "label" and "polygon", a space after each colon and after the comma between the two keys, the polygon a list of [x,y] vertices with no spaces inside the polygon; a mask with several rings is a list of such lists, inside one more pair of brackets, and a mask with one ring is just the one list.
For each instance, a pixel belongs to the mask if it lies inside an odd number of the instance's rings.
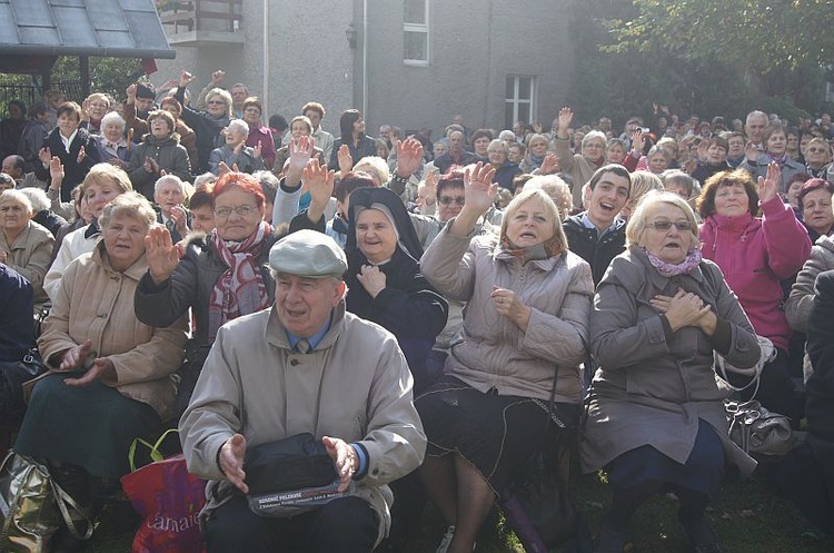
{"label": "black handbag standing upright between the two front-row women at right", "polygon": [[[579,408],[564,416],[573,405],[557,411],[556,376],[547,407],[542,446],[500,496],[504,515],[527,553],[546,553],[574,540],[573,551],[590,551],[590,536],[570,498],[570,454],[576,444]],[[552,424],[559,427],[552,436]]]}

